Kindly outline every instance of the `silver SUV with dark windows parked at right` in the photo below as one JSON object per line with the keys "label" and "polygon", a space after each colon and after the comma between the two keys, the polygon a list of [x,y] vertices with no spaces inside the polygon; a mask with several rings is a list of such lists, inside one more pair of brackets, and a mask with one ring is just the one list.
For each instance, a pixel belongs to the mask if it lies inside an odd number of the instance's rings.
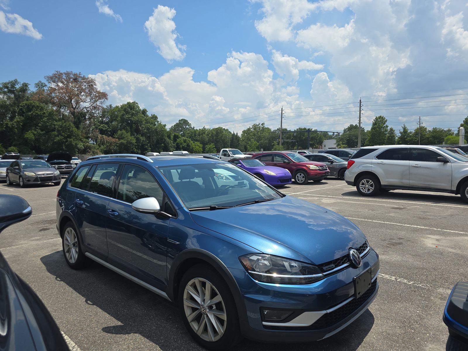
{"label": "silver SUV with dark windows parked at right", "polygon": [[364,196],[424,190],[460,194],[468,203],[468,158],[436,146],[362,147],[348,161],[344,180]]}

